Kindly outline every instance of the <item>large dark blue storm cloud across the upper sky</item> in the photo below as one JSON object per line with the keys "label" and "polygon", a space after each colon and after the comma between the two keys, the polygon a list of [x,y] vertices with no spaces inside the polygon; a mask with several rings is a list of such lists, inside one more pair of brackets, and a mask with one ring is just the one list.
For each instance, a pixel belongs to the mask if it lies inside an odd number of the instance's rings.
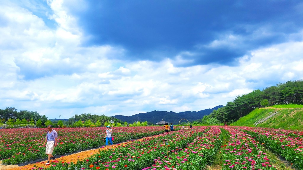
{"label": "large dark blue storm cloud across the upper sky", "polygon": [[[301,1],[89,1],[77,12],[92,38],[85,45],[125,48],[127,60],[173,58],[191,51],[192,64],[231,64],[253,49],[285,41],[303,25]],[[263,32],[263,34],[261,33]],[[258,33],[260,31],[260,33]],[[270,34],[266,34],[270,32]],[[203,47],[220,34],[245,40],[236,47]],[[234,42],[237,43],[237,42]],[[120,57],[120,59],[122,59]]]}

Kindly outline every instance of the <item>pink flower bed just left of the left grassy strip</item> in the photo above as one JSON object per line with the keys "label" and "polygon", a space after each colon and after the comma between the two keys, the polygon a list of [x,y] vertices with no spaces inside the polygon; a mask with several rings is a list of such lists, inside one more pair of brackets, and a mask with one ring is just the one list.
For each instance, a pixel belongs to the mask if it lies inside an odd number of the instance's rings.
{"label": "pink flower bed just left of the left grassy strip", "polygon": [[216,152],[222,143],[219,127],[211,127],[203,136],[197,136],[189,142],[185,149],[171,150],[169,157],[158,157],[152,166],[142,170],[177,170],[177,169],[205,169],[215,159]]}

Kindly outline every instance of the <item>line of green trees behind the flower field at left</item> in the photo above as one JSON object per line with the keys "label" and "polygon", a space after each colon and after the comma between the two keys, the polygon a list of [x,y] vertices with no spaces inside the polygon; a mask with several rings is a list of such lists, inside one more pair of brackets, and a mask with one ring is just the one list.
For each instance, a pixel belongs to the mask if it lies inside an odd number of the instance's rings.
{"label": "line of green trees behind the flower field at left", "polygon": [[[52,121],[53,120],[53,121]],[[113,120],[114,123],[110,123]],[[21,110],[17,111],[15,107],[7,107],[0,109],[0,125],[5,124],[6,128],[19,127],[39,127],[43,128],[47,125],[54,127],[102,127],[102,126],[147,126],[145,122],[134,122],[132,124],[122,122],[120,119],[103,115],[95,115],[91,113],[83,113],[74,115],[68,120],[48,119],[45,115],[41,116],[37,111]]]}

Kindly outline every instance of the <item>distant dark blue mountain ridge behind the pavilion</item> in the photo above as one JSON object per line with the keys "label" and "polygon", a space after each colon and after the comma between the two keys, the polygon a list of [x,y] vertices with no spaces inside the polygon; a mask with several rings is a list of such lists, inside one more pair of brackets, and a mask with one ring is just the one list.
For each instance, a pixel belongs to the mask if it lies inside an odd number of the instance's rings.
{"label": "distant dark blue mountain ridge behind the pavilion", "polygon": [[122,122],[127,122],[127,123],[134,123],[137,121],[140,122],[150,122],[153,124],[156,124],[160,122],[162,119],[166,122],[173,123],[173,124],[178,124],[180,119],[187,119],[188,121],[194,121],[197,119],[203,118],[205,115],[209,115],[213,110],[217,110],[218,108],[223,107],[222,105],[216,106],[212,109],[205,109],[205,110],[200,110],[198,112],[196,111],[185,111],[185,112],[179,112],[175,113],[173,111],[158,111],[154,110],[151,112],[147,113],[138,113],[132,116],[123,116],[123,115],[116,115],[113,116],[117,119],[122,120]]}

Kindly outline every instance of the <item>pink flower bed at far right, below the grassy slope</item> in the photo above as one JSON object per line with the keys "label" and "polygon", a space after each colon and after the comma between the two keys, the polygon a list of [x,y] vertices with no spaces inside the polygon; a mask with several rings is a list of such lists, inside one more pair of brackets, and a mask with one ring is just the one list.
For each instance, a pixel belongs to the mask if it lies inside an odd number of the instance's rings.
{"label": "pink flower bed at far right, below the grassy slope", "polygon": [[285,129],[239,127],[251,136],[290,161],[297,169],[303,169],[303,136],[300,132]]}

